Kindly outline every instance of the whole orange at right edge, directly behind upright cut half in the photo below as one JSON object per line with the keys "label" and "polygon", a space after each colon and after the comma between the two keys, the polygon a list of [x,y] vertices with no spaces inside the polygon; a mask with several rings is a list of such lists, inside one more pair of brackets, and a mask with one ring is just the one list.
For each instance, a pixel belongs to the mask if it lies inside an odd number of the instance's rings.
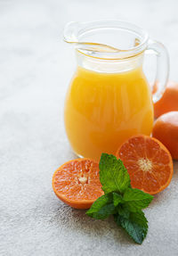
{"label": "whole orange at right edge, directly behind upright cut half", "polygon": [[154,124],[152,136],[166,145],[172,157],[178,160],[178,111],[160,116]]}

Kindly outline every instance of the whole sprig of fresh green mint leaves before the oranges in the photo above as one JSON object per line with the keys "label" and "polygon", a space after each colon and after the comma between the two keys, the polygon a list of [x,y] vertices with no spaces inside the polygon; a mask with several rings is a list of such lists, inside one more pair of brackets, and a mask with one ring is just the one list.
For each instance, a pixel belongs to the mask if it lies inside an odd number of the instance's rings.
{"label": "whole sprig of fresh green mint leaves before the oranges", "polygon": [[117,226],[123,227],[134,242],[142,244],[148,231],[148,220],[142,209],[149,206],[153,196],[131,187],[123,162],[114,155],[102,153],[99,168],[105,194],[93,202],[86,214],[93,219],[113,215]]}

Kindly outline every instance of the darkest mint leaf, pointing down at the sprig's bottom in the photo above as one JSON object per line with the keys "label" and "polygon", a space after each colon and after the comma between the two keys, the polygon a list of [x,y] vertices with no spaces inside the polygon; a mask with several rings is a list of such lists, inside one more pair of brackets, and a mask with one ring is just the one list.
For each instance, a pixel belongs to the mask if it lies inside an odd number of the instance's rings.
{"label": "darkest mint leaf, pointing down at the sprig's bottom", "polygon": [[115,221],[118,226],[125,228],[125,231],[134,239],[134,242],[142,244],[148,231],[148,220],[142,211],[131,212],[128,219],[120,215],[115,215]]}

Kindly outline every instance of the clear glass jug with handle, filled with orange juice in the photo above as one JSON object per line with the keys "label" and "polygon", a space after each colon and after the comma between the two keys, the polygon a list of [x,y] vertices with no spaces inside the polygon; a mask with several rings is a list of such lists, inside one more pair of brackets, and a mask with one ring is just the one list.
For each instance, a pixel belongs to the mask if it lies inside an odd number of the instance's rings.
{"label": "clear glass jug with handle, filled with orange juice", "polygon": [[[168,77],[166,48],[148,33],[123,21],[70,22],[64,40],[75,45],[77,70],[66,95],[64,121],[75,153],[99,161],[115,154],[130,136],[150,135],[153,102]],[[157,92],[142,70],[146,51],[157,56]]]}

